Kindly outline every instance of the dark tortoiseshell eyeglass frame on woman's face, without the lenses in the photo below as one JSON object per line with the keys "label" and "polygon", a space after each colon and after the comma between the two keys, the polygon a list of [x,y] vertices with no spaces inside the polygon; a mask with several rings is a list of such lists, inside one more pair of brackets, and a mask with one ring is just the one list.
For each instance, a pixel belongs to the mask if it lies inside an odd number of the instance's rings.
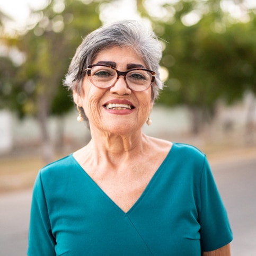
{"label": "dark tortoiseshell eyeglass frame on woman's face, without the lenses", "polygon": [[[144,91],[148,90],[149,87],[150,87],[150,86],[154,83],[154,81],[155,81],[156,73],[155,73],[154,71],[150,70],[150,69],[147,69],[147,68],[133,68],[133,69],[130,69],[130,70],[127,70],[127,71],[119,71],[118,69],[116,69],[116,68],[114,68],[114,67],[112,67],[112,66],[109,66],[109,65],[105,65],[105,64],[89,64],[89,65],[87,66],[87,68],[84,69],[84,72],[86,72],[88,76],[92,77],[92,75],[91,75],[91,70],[92,70],[93,67],[97,67],[97,66],[112,68],[112,69],[115,70],[116,73],[117,73],[117,80],[116,80],[116,82],[114,82],[112,85],[110,85],[110,86],[108,86],[108,87],[100,87],[100,86],[95,85],[95,84],[92,82],[92,84],[93,84],[94,86],[96,86],[96,87],[98,87],[98,88],[100,88],[100,89],[109,89],[109,88],[113,87],[113,86],[117,83],[117,81],[118,81],[118,79],[119,79],[120,76],[123,77],[123,79],[125,80],[126,85],[128,86],[128,88],[129,88],[130,90],[132,90],[132,91],[135,91],[135,92],[144,92]],[[151,83],[148,85],[148,87],[147,87],[146,89],[144,89],[144,90],[142,90],[142,91],[136,91],[136,90],[131,89],[130,86],[128,85],[128,83],[127,83],[127,81],[126,81],[126,75],[127,75],[129,72],[134,71],[134,70],[144,70],[144,71],[147,71],[147,72],[151,73],[151,75],[152,75]]]}

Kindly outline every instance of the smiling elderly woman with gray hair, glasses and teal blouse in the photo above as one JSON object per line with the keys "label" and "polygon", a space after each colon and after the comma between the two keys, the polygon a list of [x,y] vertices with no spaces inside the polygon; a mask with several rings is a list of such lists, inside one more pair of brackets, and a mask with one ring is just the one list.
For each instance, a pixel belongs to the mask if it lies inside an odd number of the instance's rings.
{"label": "smiling elderly woman with gray hair, glasses and teal blouse", "polygon": [[230,255],[227,215],[206,157],[146,136],[161,45],[135,21],[89,34],[70,64],[91,141],[40,170],[28,255]]}

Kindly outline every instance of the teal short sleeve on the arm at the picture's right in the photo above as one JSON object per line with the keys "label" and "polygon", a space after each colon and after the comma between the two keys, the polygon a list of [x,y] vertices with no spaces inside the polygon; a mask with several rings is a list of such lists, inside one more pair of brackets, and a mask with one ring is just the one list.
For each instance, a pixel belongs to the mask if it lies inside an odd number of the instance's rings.
{"label": "teal short sleeve on the arm at the picture's right", "polygon": [[232,241],[227,213],[206,158],[201,176],[199,223],[202,251],[213,251]]}

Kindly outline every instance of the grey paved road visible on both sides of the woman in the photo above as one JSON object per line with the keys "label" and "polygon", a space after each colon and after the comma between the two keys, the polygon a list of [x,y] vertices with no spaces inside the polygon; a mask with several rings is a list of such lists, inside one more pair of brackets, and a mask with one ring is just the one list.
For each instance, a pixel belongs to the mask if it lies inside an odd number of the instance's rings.
{"label": "grey paved road visible on both sides of the woman", "polygon": [[[232,226],[232,256],[256,255],[256,156],[213,161],[213,174]],[[0,255],[23,256],[31,190],[0,195]]]}

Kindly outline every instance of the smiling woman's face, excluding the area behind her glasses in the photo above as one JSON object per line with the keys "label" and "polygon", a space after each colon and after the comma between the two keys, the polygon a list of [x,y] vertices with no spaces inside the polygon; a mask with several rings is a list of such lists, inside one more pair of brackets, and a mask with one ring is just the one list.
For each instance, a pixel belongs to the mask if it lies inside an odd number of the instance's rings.
{"label": "smiling woman's face, excluding the area behind her glasses", "polygon": [[[142,58],[128,47],[105,49],[91,64],[107,64],[125,72],[136,67],[146,68]],[[139,130],[153,107],[151,87],[143,92],[129,89],[122,76],[108,89],[94,86],[86,75],[83,94],[74,93],[74,101],[83,107],[91,130],[96,128],[114,134]]]}

